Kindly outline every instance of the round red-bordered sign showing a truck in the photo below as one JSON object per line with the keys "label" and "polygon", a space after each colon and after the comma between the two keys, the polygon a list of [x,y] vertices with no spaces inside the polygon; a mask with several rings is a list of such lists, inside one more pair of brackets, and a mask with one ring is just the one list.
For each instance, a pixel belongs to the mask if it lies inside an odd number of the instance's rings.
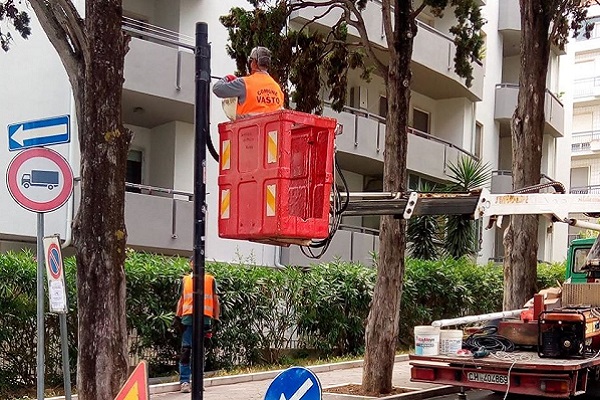
{"label": "round red-bordered sign showing a truck", "polygon": [[8,165],[6,185],[15,201],[30,211],[60,208],[73,192],[73,172],[59,153],[44,147],[23,150]]}

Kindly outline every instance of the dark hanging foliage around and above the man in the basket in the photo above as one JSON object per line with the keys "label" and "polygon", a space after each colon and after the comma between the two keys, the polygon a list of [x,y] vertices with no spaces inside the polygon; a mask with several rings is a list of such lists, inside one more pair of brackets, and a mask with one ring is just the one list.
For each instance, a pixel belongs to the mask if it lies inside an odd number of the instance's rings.
{"label": "dark hanging foliage around and above the man in the basket", "polygon": [[[324,91],[329,93],[332,108],[342,109],[350,69],[362,69],[361,76],[369,79],[371,69],[363,62],[364,53],[348,45],[348,30],[342,21],[327,33],[307,26],[293,30],[287,25],[293,9],[290,2],[249,2],[253,10],[234,7],[220,18],[229,34],[227,53],[236,61],[236,75],[248,73],[248,56],[253,47],[268,47],[272,52],[269,73],[286,94],[286,106],[291,99],[296,110],[317,114],[323,111]],[[366,2],[363,3],[364,7]]]}

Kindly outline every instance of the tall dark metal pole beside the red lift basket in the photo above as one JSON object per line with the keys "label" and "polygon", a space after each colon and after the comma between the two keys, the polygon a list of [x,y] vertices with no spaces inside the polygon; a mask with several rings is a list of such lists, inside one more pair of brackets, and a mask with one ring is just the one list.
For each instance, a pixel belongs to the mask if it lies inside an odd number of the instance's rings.
{"label": "tall dark metal pole beside the red lift basket", "polygon": [[196,24],[196,112],[194,149],[194,314],[192,326],[192,400],[204,390],[204,264],[206,247],[206,138],[210,113],[208,24]]}

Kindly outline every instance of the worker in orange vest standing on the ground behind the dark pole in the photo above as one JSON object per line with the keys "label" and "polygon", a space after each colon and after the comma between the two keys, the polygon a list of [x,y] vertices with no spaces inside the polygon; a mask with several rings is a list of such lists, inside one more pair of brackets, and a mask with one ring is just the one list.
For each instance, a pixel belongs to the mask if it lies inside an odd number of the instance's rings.
{"label": "worker in orange vest standing on the ground behind the dark pole", "polygon": [[[190,269],[193,270],[194,261],[190,259]],[[179,382],[181,391],[190,393],[191,355],[192,355],[192,314],[194,311],[194,279],[193,274],[185,275],[182,280],[181,297],[177,302],[176,319],[181,323],[181,358],[179,360]],[[204,275],[204,332],[205,337],[212,337],[212,328],[220,314],[217,281],[210,274]]]}

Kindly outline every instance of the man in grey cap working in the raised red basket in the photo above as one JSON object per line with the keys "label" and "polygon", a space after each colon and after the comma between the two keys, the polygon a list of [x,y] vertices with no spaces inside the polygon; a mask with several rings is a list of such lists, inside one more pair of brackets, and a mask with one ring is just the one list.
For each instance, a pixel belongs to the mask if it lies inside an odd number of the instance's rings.
{"label": "man in grey cap working in the raised red basket", "polygon": [[213,85],[220,98],[237,98],[236,116],[244,117],[281,110],[284,96],[281,87],[269,75],[271,51],[255,47],[248,58],[250,75],[237,78],[227,75]]}

